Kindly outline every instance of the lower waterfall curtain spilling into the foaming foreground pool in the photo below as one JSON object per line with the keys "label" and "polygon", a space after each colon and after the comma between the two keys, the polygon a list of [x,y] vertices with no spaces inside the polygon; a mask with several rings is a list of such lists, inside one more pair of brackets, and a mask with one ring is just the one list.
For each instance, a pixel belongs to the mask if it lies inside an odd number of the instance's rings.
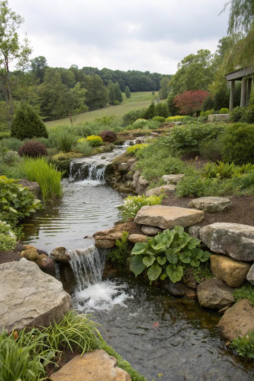
{"label": "lower waterfall curtain spilling into the foaming foreground pool", "polygon": [[101,255],[94,245],[83,249],[68,250],[70,266],[79,291],[101,282],[106,262],[106,250],[100,250],[100,252]]}

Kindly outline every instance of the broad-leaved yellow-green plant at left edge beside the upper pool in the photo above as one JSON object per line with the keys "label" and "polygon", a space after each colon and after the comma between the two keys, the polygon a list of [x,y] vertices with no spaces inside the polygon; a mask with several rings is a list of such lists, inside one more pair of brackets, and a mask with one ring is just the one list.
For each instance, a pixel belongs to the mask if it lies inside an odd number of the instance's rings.
{"label": "broad-leaved yellow-green plant at left edge beside the upper pool", "polygon": [[17,183],[18,180],[0,176],[0,211],[8,209],[17,213],[20,218],[24,218],[40,210],[42,205],[40,200],[34,199],[34,195],[27,187]]}

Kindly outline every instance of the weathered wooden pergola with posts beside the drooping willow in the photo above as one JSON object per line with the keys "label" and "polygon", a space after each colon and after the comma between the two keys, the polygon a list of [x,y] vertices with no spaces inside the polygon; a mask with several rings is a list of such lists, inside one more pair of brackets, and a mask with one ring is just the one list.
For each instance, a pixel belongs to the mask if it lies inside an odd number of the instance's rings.
{"label": "weathered wooden pergola with posts beside the drooping willow", "polygon": [[[246,75],[249,76],[248,79],[246,79]],[[236,70],[235,72],[225,75],[226,80],[231,82],[229,112],[233,110],[234,106],[235,81],[242,81],[240,106],[248,106],[251,94],[252,75],[254,75],[254,67],[245,67],[244,69]]]}

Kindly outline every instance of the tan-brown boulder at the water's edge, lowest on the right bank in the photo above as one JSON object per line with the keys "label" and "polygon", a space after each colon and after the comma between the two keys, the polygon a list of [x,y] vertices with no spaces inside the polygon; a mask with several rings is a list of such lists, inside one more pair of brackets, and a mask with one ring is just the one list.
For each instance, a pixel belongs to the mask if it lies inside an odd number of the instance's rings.
{"label": "tan-brown boulder at the water's edge, lowest on the right bank", "polygon": [[230,341],[237,336],[244,336],[249,330],[253,331],[254,306],[246,299],[239,300],[224,312],[217,327]]}

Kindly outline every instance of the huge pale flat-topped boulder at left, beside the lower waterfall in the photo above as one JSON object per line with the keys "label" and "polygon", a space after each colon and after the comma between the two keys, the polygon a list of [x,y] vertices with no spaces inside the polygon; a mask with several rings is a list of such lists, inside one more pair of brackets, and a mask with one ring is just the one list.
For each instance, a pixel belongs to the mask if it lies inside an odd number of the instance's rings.
{"label": "huge pale flat-topped boulder at left, beside the lower waterfall", "polygon": [[0,290],[0,329],[8,332],[48,327],[72,308],[62,283],[24,258],[0,264]]}

